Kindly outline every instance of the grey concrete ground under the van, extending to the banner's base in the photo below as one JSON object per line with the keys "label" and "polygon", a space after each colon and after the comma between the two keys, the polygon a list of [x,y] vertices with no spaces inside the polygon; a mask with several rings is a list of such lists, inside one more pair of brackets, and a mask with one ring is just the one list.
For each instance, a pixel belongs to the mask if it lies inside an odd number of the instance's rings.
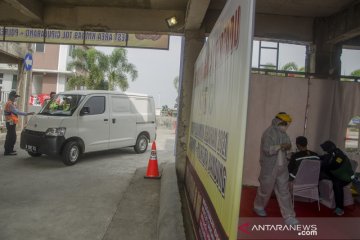
{"label": "grey concrete ground under the van, extending to the banner's base", "polygon": [[[1,149],[0,239],[169,239],[159,238],[164,232],[185,239],[178,191],[163,190],[177,189],[173,131],[158,129],[157,145],[161,180],[143,178],[150,151],[92,153],[66,167],[22,150],[4,157]],[[177,204],[164,210],[166,202]]]}

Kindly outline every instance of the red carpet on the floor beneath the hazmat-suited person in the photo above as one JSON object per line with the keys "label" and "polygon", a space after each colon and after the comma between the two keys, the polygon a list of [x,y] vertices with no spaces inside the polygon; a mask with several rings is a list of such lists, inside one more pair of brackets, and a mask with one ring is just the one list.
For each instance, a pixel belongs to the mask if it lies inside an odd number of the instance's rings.
{"label": "red carpet on the floor beneath the hazmat-suited person", "polygon": [[[240,217],[257,217],[253,212],[253,203],[257,187],[243,186],[240,202]],[[268,217],[281,217],[279,205],[276,197],[270,198],[266,207]],[[360,217],[360,205],[355,203],[353,206],[345,207],[345,214],[342,217]],[[317,202],[298,202],[295,201],[295,212],[297,217],[335,217],[333,210],[320,204],[318,211]]]}

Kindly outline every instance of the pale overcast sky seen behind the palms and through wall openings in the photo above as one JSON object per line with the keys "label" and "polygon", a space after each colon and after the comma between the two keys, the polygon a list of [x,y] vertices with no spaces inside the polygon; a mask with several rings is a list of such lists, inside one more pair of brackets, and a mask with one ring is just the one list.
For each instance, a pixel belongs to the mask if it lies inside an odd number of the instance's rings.
{"label": "pale overcast sky seen behind the palms and through wall openings", "polygon": [[[111,47],[97,47],[97,49],[110,54]],[[134,82],[129,82],[128,92],[152,95],[156,107],[168,105],[174,107],[177,92],[173,80],[179,76],[181,37],[171,36],[170,48],[167,50],[128,48],[128,60],[133,63],[139,76]],[[252,66],[258,66],[259,42],[254,42]],[[342,75],[350,74],[360,69],[360,50],[343,50]],[[262,52],[261,64],[276,62],[274,50]],[[298,67],[305,65],[305,46],[281,44],[279,50],[279,68],[288,62],[295,62]]]}

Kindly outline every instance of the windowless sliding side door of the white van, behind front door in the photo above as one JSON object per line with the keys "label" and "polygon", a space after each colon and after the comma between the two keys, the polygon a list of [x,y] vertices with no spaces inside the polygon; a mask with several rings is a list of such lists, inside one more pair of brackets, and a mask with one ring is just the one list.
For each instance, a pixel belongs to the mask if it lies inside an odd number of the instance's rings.
{"label": "windowless sliding side door of the white van, behind front door", "polygon": [[127,96],[112,95],[110,100],[110,148],[134,146],[136,116]]}

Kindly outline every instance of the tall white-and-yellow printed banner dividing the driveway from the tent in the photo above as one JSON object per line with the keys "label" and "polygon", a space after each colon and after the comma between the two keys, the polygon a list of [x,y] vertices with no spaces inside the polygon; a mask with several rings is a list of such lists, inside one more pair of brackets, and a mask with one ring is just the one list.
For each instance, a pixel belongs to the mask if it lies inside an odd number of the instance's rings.
{"label": "tall white-and-yellow printed banner dividing the driveway from the tent", "polygon": [[[214,208],[211,218],[229,239],[237,237],[240,211],[254,7],[227,1],[194,73],[187,156],[210,199],[205,208]],[[212,234],[205,220],[200,236]]]}

